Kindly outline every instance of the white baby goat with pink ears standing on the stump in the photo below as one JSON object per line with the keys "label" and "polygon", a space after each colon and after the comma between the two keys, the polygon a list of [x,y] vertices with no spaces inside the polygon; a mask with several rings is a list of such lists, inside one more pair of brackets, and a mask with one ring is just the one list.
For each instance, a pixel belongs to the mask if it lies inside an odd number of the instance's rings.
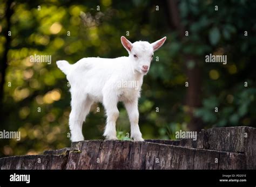
{"label": "white baby goat with pink ears standing on the stump", "polygon": [[[159,49],[166,37],[150,44],[147,41],[136,41],[133,44],[125,37],[121,42],[129,56],[116,59],[87,57],[75,64],[68,61],[57,61],[57,66],[66,74],[71,85],[71,113],[69,127],[71,141],[82,141],[82,125],[94,102],[103,103],[106,111],[106,128],[104,136],[117,140],[116,120],[119,115],[117,103],[123,102],[131,123],[131,138],[143,141],[139,130],[138,98],[143,83],[143,76],[150,69],[153,52]],[[137,82],[138,88],[120,87],[122,82]],[[126,84],[127,85],[127,84]]]}

